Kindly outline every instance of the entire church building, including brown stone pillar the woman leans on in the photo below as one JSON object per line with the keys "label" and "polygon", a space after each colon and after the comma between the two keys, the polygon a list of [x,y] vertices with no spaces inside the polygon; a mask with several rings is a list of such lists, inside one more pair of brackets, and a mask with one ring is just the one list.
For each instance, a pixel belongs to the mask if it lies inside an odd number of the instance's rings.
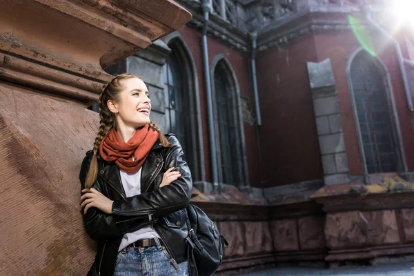
{"label": "entire church building, including brown stone pillar the woman leans on", "polygon": [[121,72],[144,77],[230,241],[218,274],[414,253],[414,33],[391,3],[177,3],[193,18],[171,0],[0,1],[0,275],[88,270],[88,109]]}

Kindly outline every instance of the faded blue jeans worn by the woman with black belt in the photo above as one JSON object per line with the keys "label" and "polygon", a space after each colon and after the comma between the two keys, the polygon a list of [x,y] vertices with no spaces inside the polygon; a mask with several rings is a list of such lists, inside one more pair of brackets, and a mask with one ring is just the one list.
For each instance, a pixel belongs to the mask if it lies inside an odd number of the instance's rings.
{"label": "faded blue jeans worn by the woman with black belt", "polygon": [[114,276],[188,276],[188,264],[175,263],[164,246],[127,247],[118,252]]}

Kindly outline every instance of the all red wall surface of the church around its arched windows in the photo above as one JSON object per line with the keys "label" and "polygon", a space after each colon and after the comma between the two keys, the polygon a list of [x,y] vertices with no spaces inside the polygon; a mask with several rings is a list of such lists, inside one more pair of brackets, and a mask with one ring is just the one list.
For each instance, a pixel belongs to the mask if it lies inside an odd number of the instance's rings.
{"label": "all red wall surface of the church around its arched windows", "polygon": [[[197,67],[206,177],[207,181],[211,181],[201,34],[186,26],[180,32],[191,50]],[[412,137],[414,130],[410,112],[406,108],[406,99],[395,52],[393,47],[385,44],[382,38],[375,41],[374,44],[377,46],[377,52],[386,64],[388,72],[391,73],[408,169],[413,171],[414,139]],[[273,49],[258,54],[257,79],[262,112],[259,141],[257,141],[256,126],[244,123],[251,186],[261,187],[260,181],[263,182],[264,187],[270,187],[322,179],[323,170],[306,62],[319,62],[326,58],[331,59],[337,84],[350,172],[351,175],[362,175],[362,161],[346,79],[348,59],[357,48],[359,48],[359,42],[351,32],[348,32],[345,34],[317,34],[279,50]],[[210,38],[208,39],[208,51],[210,62],[216,55],[226,55],[235,71],[240,95],[248,99],[253,115],[255,115],[248,56]],[[259,163],[257,150],[258,142],[262,154],[261,163]]]}

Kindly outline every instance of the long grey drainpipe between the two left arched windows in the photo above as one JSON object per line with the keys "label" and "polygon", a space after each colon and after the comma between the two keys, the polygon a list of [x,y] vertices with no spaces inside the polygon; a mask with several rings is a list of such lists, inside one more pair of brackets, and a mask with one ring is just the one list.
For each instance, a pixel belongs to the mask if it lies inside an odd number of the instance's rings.
{"label": "long grey drainpipe between the two left arched windows", "polygon": [[206,96],[207,96],[207,112],[208,112],[208,128],[210,128],[209,139],[211,147],[211,169],[213,172],[213,188],[215,191],[221,193],[219,187],[219,177],[217,174],[217,150],[215,142],[215,126],[213,119],[213,95],[211,94],[211,82],[210,82],[210,65],[208,63],[208,46],[207,46],[207,27],[208,27],[208,14],[210,13],[210,3],[208,0],[204,0],[201,3],[201,9],[204,14],[203,25],[203,61],[204,61],[204,73],[206,79]]}

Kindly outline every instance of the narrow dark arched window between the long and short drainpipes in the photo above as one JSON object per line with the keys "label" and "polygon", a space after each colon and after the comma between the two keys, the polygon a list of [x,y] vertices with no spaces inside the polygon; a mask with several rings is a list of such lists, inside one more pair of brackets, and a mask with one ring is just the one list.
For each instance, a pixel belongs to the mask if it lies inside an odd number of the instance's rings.
{"label": "narrow dark arched window between the long and short drainpipes", "polygon": [[213,101],[219,181],[248,186],[246,149],[235,74],[221,56],[213,61]]}

